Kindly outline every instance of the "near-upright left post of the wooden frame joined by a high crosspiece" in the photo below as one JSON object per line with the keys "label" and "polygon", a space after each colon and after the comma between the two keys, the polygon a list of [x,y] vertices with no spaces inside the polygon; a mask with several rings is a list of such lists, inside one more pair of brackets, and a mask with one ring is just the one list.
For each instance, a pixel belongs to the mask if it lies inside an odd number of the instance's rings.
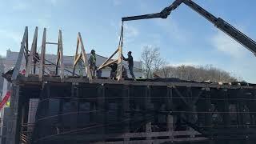
{"label": "near-upright left post of the wooden frame joined by a high crosspiece", "polygon": [[42,81],[43,74],[45,73],[45,57],[46,57],[46,28],[43,29],[42,34],[42,48],[39,67],[39,81]]}

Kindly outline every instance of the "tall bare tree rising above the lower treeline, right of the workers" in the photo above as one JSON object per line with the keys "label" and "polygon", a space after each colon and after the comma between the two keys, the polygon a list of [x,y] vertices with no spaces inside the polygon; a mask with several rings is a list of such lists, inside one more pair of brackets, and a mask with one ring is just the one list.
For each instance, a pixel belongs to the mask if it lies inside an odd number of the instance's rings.
{"label": "tall bare tree rising above the lower treeline, right of the workers", "polygon": [[143,71],[146,78],[153,78],[154,71],[158,71],[166,64],[166,61],[160,57],[157,47],[145,46],[142,51]]}

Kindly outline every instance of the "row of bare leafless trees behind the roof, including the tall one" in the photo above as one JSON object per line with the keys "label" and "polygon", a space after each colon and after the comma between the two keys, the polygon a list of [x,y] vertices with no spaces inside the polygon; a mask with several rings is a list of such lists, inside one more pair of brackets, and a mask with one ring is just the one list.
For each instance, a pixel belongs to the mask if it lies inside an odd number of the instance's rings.
{"label": "row of bare leafless trees behind the roof, including the tall one", "polygon": [[215,68],[212,65],[168,66],[166,61],[160,57],[159,49],[152,46],[145,46],[143,48],[142,62],[146,78],[153,78],[154,75],[158,75],[161,78],[179,78],[199,82],[235,82],[242,80],[242,78],[235,78],[230,73]]}

